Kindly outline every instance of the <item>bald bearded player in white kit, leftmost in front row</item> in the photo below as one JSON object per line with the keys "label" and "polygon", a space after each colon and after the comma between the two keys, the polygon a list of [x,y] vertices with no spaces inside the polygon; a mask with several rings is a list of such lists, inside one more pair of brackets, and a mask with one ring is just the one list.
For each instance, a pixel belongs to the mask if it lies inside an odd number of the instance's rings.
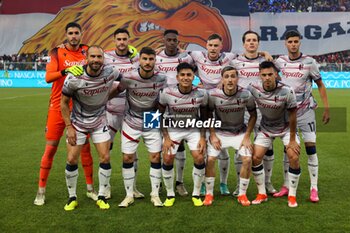
{"label": "bald bearded player in white kit, leftmost in front row", "polygon": [[[64,82],[61,97],[62,117],[67,128],[67,165],[66,183],[69,200],[64,206],[66,211],[78,206],[76,186],[78,180],[78,157],[86,137],[91,135],[99,155],[99,191],[96,204],[100,209],[109,209],[105,193],[112,169],[109,147],[110,135],[106,118],[106,103],[113,82],[119,77],[119,71],[103,66],[103,49],[91,46],[87,51],[87,66],[81,76],[68,75]],[[69,102],[73,100],[70,114]]]}

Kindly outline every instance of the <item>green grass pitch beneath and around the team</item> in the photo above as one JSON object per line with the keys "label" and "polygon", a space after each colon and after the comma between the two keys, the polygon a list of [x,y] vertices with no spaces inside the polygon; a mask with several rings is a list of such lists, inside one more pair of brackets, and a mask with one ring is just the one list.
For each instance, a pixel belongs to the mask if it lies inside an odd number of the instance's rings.
{"label": "green grass pitch beneath and around the team", "polygon": [[[146,195],[144,200],[136,200],[127,209],[117,207],[125,191],[120,146],[115,146],[111,155],[111,209],[101,211],[86,198],[85,178],[79,166],[79,207],[69,213],[63,210],[68,195],[64,179],[66,148],[63,140],[48,180],[46,204],[42,207],[33,204],[45,145],[49,93],[49,89],[0,89],[0,232],[350,232],[350,135],[349,119],[345,118],[350,116],[350,90],[328,90],[331,107],[343,108],[347,114],[343,114],[344,111],[342,114],[337,110],[333,112],[332,109],[331,124],[319,127],[322,132],[318,132],[317,138],[320,163],[320,202],[317,204],[308,201],[309,175],[302,147],[298,208],[289,208],[286,198],[269,198],[267,203],[259,206],[242,207],[235,198],[219,195],[218,177],[213,206],[193,207],[190,197],[177,197],[172,208],[155,208],[149,199],[148,156],[144,146],[140,145],[137,184]],[[317,90],[314,93],[319,99]],[[342,120],[348,124],[342,124]],[[318,124],[321,125],[320,122]],[[120,144],[120,136],[117,138],[115,145]],[[96,152],[93,151],[93,154],[97,188],[98,162]],[[193,162],[189,154],[187,158],[185,184],[191,192]],[[276,188],[282,184],[282,147],[279,141],[275,143],[272,180]],[[235,185],[236,175],[231,159],[230,191]],[[251,178],[248,197],[253,199],[255,195],[256,185]],[[165,190],[161,199],[165,199]]]}

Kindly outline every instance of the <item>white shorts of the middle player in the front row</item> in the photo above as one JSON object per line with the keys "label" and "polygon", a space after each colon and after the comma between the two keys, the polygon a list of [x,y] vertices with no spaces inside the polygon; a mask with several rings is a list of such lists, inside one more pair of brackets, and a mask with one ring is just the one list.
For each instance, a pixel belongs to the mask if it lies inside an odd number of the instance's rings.
{"label": "white shorts of the middle player in the front row", "polygon": [[182,140],[186,140],[190,150],[198,150],[198,143],[201,138],[199,129],[186,130],[168,130],[171,141],[174,142],[175,148],[171,148],[171,154],[176,154]]}

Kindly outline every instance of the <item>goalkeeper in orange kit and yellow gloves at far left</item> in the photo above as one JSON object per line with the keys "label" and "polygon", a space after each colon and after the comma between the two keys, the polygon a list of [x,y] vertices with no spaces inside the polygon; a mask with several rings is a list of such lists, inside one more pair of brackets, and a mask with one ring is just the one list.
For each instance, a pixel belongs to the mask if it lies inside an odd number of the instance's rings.
{"label": "goalkeeper in orange kit and yellow gloves at far left", "polygon": [[[35,205],[45,204],[47,179],[65,129],[60,108],[64,80],[68,72],[81,74],[82,70],[75,65],[83,65],[86,58],[87,46],[80,43],[82,38],[80,25],[75,22],[68,23],[65,31],[67,43],[64,44],[64,48],[54,48],[50,51],[50,62],[46,66],[46,82],[52,83],[52,90],[46,122],[46,146],[40,163],[39,189],[34,200]],[[93,160],[89,143],[85,144],[81,151],[81,162],[87,184],[86,194],[89,198],[97,200],[97,194],[93,189]]]}

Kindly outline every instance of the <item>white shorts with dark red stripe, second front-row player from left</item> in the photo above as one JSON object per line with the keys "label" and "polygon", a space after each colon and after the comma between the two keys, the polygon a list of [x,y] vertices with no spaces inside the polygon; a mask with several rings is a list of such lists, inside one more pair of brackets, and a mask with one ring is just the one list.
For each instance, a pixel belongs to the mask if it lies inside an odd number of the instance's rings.
{"label": "white shorts with dark red stripe, second front-row player from left", "polygon": [[159,129],[150,131],[140,131],[131,128],[125,121],[122,125],[122,152],[124,154],[134,154],[137,151],[137,146],[140,138],[147,147],[148,152],[158,153],[162,150],[162,137]]}

